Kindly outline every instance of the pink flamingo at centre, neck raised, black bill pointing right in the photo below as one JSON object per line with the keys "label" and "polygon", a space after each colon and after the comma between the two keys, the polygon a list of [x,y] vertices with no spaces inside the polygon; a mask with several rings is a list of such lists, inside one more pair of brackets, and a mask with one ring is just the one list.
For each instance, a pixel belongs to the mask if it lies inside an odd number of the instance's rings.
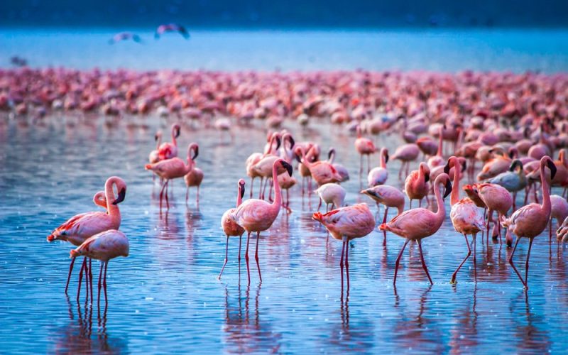
{"label": "pink flamingo at centre, neck raised, black bill pointing right", "polygon": [[282,206],[282,192],[278,184],[278,174],[288,171],[288,175],[292,176],[292,165],[286,163],[283,159],[276,160],[272,165],[272,179],[274,182],[274,201],[272,203],[264,200],[250,199],[243,202],[233,214],[233,218],[239,226],[242,226],[247,232],[246,239],[246,273],[249,276],[249,284],[251,283],[251,272],[249,268],[249,243],[251,241],[251,233],[256,231],[256,251],[254,258],[258,268],[258,277],[262,282],[261,266],[258,263],[258,241],[261,239],[261,231],[270,228],[280,213]]}

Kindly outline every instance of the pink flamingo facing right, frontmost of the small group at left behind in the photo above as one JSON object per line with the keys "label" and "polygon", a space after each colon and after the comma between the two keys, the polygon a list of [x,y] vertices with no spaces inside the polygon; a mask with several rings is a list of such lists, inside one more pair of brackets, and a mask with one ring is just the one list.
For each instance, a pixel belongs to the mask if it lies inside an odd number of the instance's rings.
{"label": "pink flamingo facing right, frontmost of the small group at left behind", "polygon": [[[193,152],[193,156],[192,156]],[[191,172],[193,166],[195,165],[194,160],[199,155],[199,146],[197,143],[190,143],[187,146],[187,163],[184,163],[178,157],[160,160],[158,163],[146,164],[146,170],[152,170],[160,178],[164,180],[162,188],[160,189],[160,210],[162,209],[162,197],[164,189],[168,186],[168,182],[175,178],[183,178],[185,175]],[[168,201],[168,192],[165,194],[166,208],[170,208],[170,202]]]}

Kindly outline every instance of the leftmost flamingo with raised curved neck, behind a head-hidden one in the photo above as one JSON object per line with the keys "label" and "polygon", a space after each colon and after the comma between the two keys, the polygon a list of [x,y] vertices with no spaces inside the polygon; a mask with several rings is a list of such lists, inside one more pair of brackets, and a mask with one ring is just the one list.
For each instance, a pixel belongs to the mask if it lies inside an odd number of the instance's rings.
{"label": "leftmost flamingo with raised curved neck, behind a head-hidden one", "polygon": [[[114,187],[119,192],[118,197],[114,197]],[[121,215],[120,209],[117,206],[120,202],[124,201],[126,196],[126,182],[117,176],[111,176],[104,183],[104,198],[107,202],[107,212],[88,212],[83,214],[77,214],[71,217],[64,224],[58,226],[49,236],[48,241],[62,240],[69,241],[75,246],[80,246],[89,237],[94,236],[102,231],[107,231],[109,229],[117,229],[120,226]],[[99,193],[94,196],[94,203],[97,205],[102,205],[102,198]],[[73,270],[73,264],[75,264],[75,258],[71,261],[69,266],[69,275],[67,275],[67,284],[65,285],[65,294],[67,294],[67,288],[69,288],[69,281],[71,278],[71,272]],[[77,289],[77,301],[79,300],[80,290],[81,290],[81,280],[82,272],[87,268],[87,259],[83,261],[81,267],[79,288]]]}

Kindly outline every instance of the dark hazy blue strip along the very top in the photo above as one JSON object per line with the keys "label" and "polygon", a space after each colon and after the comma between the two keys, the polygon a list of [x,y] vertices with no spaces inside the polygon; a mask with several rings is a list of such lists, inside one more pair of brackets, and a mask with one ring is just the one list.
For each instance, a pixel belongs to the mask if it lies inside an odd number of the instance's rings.
{"label": "dark hazy blue strip along the very top", "polygon": [[0,1],[3,26],[195,27],[566,27],[566,0],[18,0]]}

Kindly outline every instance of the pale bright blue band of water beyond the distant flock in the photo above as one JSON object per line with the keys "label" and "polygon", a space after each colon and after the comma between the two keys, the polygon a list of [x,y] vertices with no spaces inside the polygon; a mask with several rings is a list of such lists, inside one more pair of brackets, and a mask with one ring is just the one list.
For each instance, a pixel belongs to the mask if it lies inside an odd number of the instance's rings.
{"label": "pale bright blue band of water beyond the distant flock", "polygon": [[[125,31],[129,28],[125,28]],[[192,31],[109,45],[114,32],[0,29],[0,67],[568,71],[568,30]]]}

